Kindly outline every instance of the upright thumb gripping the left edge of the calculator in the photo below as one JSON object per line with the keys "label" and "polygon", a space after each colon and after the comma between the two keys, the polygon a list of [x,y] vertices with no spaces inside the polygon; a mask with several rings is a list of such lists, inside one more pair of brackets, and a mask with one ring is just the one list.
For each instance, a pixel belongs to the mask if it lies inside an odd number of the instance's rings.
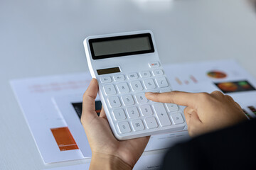
{"label": "upright thumb gripping the left edge of the calculator", "polygon": [[84,117],[87,117],[85,118],[85,120],[88,120],[97,116],[97,113],[95,111],[95,98],[97,96],[97,92],[97,80],[92,79],[92,81],[90,81],[90,85],[85,91],[85,94],[82,96],[82,119]]}

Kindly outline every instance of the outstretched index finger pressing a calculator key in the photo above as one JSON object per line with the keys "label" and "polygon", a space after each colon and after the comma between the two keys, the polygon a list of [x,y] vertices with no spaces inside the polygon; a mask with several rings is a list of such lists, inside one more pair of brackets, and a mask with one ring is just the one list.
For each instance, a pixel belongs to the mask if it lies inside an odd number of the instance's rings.
{"label": "outstretched index finger pressing a calculator key", "polygon": [[171,91],[166,93],[146,93],[146,98],[151,101],[161,103],[176,103],[181,106],[190,106],[194,108],[200,101],[198,101],[199,94],[187,93],[183,91]]}

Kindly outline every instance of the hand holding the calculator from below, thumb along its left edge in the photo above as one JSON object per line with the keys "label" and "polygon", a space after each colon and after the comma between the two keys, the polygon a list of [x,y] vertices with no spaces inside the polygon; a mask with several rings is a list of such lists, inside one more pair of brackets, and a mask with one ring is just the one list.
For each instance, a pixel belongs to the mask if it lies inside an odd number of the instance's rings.
{"label": "hand holding the calculator from below, thumb along its left edge", "polygon": [[90,169],[132,169],[144,152],[149,137],[117,140],[110,129],[103,108],[100,117],[97,116],[97,92],[97,80],[92,79],[82,99],[81,123],[92,149]]}

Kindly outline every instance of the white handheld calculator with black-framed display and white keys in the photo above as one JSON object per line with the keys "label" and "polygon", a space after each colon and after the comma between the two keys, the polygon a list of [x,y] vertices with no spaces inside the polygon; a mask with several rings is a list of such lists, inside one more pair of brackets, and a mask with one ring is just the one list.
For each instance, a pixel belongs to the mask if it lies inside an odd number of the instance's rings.
{"label": "white handheld calculator with black-framed display and white keys", "polygon": [[156,103],[145,92],[167,92],[171,86],[150,30],[89,36],[84,40],[90,74],[112,132],[118,140],[183,130],[183,111]]}

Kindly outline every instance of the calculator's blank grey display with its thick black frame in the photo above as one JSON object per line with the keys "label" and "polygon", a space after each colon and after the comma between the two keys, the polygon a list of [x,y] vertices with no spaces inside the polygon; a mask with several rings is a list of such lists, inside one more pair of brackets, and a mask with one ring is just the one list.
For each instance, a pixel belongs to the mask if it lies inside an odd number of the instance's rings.
{"label": "calculator's blank grey display with its thick black frame", "polygon": [[150,33],[90,39],[92,59],[105,59],[154,52]]}

